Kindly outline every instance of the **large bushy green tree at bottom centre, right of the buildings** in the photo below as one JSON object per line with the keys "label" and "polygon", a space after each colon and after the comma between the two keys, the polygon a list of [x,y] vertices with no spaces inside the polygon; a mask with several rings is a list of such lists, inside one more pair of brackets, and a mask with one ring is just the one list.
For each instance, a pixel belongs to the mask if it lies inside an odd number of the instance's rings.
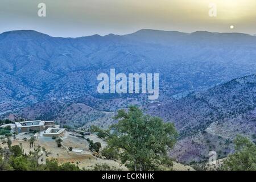
{"label": "large bushy green tree at bottom centre, right of the buildings", "polygon": [[118,150],[122,164],[135,171],[155,170],[162,164],[170,164],[167,150],[176,142],[174,124],[143,115],[136,106],[130,106],[128,112],[118,110],[115,119],[119,122],[107,131],[97,127],[92,127],[92,130],[108,136],[108,150]]}

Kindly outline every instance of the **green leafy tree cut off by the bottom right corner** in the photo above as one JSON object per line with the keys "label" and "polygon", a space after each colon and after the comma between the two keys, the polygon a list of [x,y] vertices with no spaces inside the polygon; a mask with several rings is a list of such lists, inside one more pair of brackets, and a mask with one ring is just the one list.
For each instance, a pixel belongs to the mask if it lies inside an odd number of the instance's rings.
{"label": "green leafy tree cut off by the bottom right corner", "polygon": [[224,160],[222,170],[228,171],[256,171],[256,146],[248,138],[238,136],[234,140],[234,154]]}

